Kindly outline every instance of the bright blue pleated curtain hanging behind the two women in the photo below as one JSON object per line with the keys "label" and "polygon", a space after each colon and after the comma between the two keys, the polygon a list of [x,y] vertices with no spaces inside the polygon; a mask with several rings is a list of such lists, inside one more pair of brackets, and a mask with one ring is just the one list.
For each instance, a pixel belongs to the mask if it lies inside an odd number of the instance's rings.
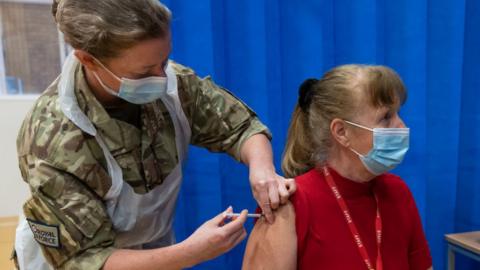
{"label": "bright blue pleated curtain hanging behind the two women", "polygon": [[[480,1],[164,3],[173,12],[172,58],[211,75],[258,113],[274,134],[277,168],[304,79],[346,63],[395,69],[409,90],[401,116],[412,130],[411,150],[395,173],[415,196],[434,267],[445,269],[444,234],[480,230]],[[255,209],[248,171],[192,147],[178,240],[229,205]],[[244,247],[195,269],[240,269]]]}

